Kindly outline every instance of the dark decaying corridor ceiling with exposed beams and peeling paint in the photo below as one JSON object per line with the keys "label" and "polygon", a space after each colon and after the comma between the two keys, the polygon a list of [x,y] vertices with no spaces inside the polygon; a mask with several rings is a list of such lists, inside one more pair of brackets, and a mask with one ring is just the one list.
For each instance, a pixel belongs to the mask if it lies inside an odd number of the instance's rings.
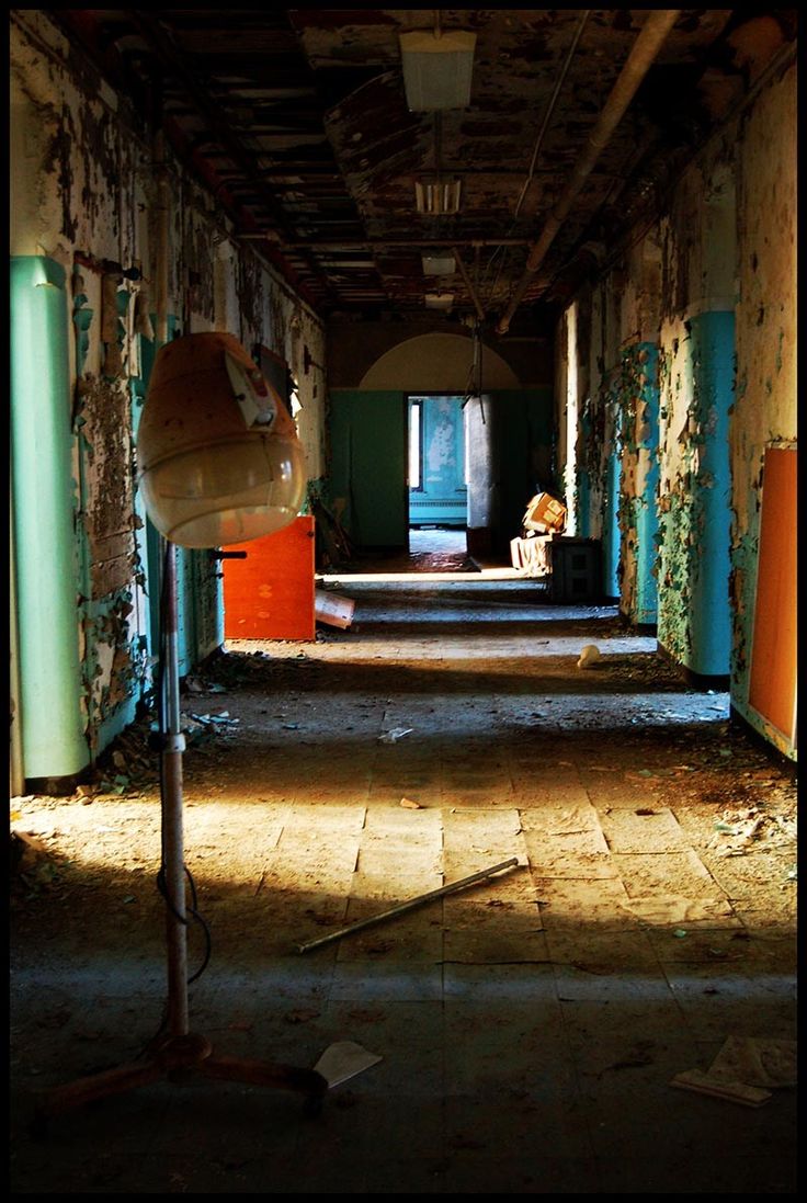
{"label": "dark decaying corridor ceiling with exposed beams and peeling paint", "polygon": [[[325,319],[548,318],[796,36],[796,10],[687,8],[598,149],[655,10],[51,10]],[[411,112],[399,34],[476,35],[470,102]],[[577,176],[575,174],[577,172]],[[461,182],[457,213],[415,184]],[[576,180],[576,183],[575,183]],[[574,188],[572,188],[574,184]],[[572,195],[574,194],[574,195]],[[554,215],[563,212],[563,219]],[[553,226],[557,225],[557,230]],[[528,254],[547,229],[540,269]],[[545,239],[546,241],[546,239]],[[423,256],[453,255],[425,274]]]}

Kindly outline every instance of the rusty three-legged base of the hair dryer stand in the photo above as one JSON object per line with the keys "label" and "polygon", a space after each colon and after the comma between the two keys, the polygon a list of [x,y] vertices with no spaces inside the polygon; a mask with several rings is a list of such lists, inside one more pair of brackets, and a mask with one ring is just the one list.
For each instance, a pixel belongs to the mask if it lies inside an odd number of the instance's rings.
{"label": "rusty three-legged base of the hair dryer stand", "polygon": [[251,1086],[297,1091],[305,1095],[309,1113],[319,1110],[328,1089],[328,1083],[316,1069],[215,1055],[204,1036],[189,1032],[185,1036],[168,1036],[148,1060],[131,1061],[44,1091],[36,1103],[34,1127],[42,1130],[47,1120],[55,1115],[111,1095],[123,1095],[127,1090],[148,1086],[160,1078],[185,1081],[194,1073],[224,1081],[245,1081]]}

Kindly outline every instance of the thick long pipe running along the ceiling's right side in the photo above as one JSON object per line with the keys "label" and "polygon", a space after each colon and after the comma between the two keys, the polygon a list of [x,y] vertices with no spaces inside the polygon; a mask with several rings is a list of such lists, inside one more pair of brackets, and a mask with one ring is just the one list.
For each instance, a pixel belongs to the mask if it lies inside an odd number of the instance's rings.
{"label": "thick long pipe running along the ceiling's right side", "polygon": [[651,12],[645,22],[641,32],[634,42],[628,60],[619,72],[611,95],[605,102],[597,125],[588,136],[588,142],[575,164],[571,178],[556,202],[548,215],[540,238],[533,243],[527,256],[524,274],[516,285],[512,298],[499,320],[497,333],[506,334],[510,328],[512,316],[521,304],[521,301],[535,278],[535,273],[544,262],[547,250],[552,245],[558,230],[563,225],[575,197],[581,191],[586,179],[594,168],[603,149],[613,135],[617,125],[625,114],[630,101],[636,95],[639,85],[649,71],[664,41],[681,14],[680,8],[659,8]]}

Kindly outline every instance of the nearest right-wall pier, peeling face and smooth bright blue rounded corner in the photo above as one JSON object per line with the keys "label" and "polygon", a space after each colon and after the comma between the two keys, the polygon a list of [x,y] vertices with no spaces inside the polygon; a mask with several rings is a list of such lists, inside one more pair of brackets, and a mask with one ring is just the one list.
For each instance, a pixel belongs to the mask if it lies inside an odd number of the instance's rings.
{"label": "nearest right-wall pier, peeling face and smooth bright blue rounded corner", "polygon": [[724,130],[684,172],[660,224],[658,634],[677,663],[705,677],[729,672],[734,154]]}

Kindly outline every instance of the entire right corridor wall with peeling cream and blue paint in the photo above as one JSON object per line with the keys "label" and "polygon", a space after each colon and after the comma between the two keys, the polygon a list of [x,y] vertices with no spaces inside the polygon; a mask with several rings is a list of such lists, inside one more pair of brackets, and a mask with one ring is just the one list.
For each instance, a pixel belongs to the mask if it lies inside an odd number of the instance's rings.
{"label": "entire right corridor wall with peeling cream and blue paint", "polygon": [[748,686],[765,449],[796,442],[795,77],[791,61],[760,84],[657,224],[575,298],[587,330],[575,505],[580,532],[603,541],[605,592],[613,571],[621,611],[646,621],[634,537],[645,527],[647,547],[654,504],[659,645],[696,677],[730,678],[735,711],[793,757]]}

